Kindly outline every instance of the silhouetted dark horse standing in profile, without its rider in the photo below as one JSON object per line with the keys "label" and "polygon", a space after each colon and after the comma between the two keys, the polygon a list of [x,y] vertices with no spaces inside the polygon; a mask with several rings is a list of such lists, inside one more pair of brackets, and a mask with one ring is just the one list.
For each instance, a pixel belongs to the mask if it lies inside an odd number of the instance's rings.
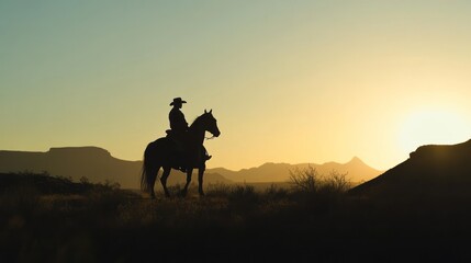
{"label": "silhouetted dark horse standing in profile, without its rider", "polygon": [[[144,163],[141,175],[141,190],[149,193],[152,198],[155,198],[154,184],[157,179],[160,168],[164,173],[160,178],[160,183],[164,186],[166,197],[170,197],[167,188],[167,179],[170,175],[171,169],[178,169],[177,163],[183,162],[187,168],[187,184],[181,191],[181,195],[186,196],[188,186],[191,182],[191,174],[193,169],[198,169],[198,192],[200,196],[204,195],[203,192],[203,174],[206,169],[205,164],[205,150],[203,148],[205,132],[209,132],[213,137],[218,137],[221,132],[217,127],[217,121],[212,114],[213,110],[197,117],[190,125],[184,140],[186,157],[184,160],[176,155],[176,141],[169,137],[162,137],[147,145],[144,151]],[[180,158],[180,160],[178,159]]]}

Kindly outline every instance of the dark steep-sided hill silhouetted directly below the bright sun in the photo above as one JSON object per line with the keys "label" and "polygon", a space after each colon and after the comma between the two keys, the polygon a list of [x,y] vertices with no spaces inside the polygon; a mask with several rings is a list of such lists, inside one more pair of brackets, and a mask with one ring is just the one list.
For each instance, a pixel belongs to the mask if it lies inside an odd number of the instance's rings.
{"label": "dark steep-sided hill silhouetted directly below the bright sun", "polygon": [[422,146],[406,161],[350,190],[350,194],[408,202],[469,199],[471,140],[458,145]]}

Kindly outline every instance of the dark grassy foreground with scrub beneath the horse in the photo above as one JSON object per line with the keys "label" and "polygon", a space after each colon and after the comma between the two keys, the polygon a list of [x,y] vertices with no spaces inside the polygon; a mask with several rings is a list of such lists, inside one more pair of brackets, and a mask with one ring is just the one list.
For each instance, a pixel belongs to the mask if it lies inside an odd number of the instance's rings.
{"label": "dark grassy foreground with scrub beneath the horse", "polygon": [[205,197],[157,199],[110,182],[0,174],[0,254],[2,262],[471,259],[460,241],[471,233],[466,204],[351,197],[346,175],[333,174],[293,171],[289,188],[214,184]]}

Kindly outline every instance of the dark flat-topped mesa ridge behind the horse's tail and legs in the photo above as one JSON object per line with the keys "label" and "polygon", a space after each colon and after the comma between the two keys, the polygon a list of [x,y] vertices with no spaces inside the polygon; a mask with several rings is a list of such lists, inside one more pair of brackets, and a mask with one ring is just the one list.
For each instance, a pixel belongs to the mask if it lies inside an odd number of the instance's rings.
{"label": "dark flat-topped mesa ridge behind the horse's tail and legs", "polygon": [[[48,172],[52,175],[86,176],[90,182],[117,182],[123,188],[138,188],[142,161],[120,160],[98,147],[51,148],[47,152],[0,151],[0,172]],[[183,183],[187,176],[172,171],[169,184]],[[197,178],[193,176],[197,182]],[[231,183],[216,173],[205,173],[205,183]]]}

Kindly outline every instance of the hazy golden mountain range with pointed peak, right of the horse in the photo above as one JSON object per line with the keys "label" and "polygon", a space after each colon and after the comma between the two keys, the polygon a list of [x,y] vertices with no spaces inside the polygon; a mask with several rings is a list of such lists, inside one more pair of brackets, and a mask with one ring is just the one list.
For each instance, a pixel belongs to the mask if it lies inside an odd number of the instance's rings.
{"label": "hazy golden mountain range with pointed peak, right of the horse", "polygon": [[367,165],[357,157],[347,163],[326,162],[324,164],[289,164],[268,162],[257,168],[243,169],[237,172],[224,168],[210,169],[209,171],[218,173],[234,182],[285,182],[290,179],[290,171],[306,169],[310,165],[324,175],[328,175],[332,171],[347,173],[347,178],[351,182],[368,181],[381,174],[381,171]]}

